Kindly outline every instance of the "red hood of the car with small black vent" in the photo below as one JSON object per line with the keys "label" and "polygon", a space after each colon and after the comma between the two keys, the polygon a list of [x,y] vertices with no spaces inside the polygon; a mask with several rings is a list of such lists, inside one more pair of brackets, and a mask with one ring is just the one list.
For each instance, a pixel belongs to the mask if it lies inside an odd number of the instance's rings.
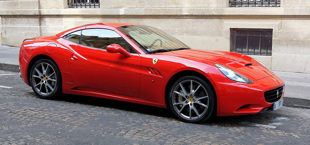
{"label": "red hood of the car with small black vent", "polygon": [[252,81],[274,75],[267,68],[258,65],[257,63],[252,63],[253,60],[249,59],[249,56],[246,55],[241,55],[241,57],[237,57],[222,52],[201,49],[185,49],[157,54],[176,56],[211,65],[214,65],[215,63],[221,64],[242,74],[243,76],[249,78]]}

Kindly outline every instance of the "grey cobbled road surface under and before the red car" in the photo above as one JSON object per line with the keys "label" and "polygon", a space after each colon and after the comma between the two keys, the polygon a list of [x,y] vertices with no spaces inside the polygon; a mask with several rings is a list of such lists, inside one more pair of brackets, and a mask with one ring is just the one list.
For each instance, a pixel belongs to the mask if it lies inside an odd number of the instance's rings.
{"label": "grey cobbled road surface under and before the red car", "polygon": [[0,111],[0,145],[310,142],[309,109],[284,106],[190,124],[167,109],[151,106],[67,94],[58,100],[39,99],[18,73],[4,71],[0,71]]}

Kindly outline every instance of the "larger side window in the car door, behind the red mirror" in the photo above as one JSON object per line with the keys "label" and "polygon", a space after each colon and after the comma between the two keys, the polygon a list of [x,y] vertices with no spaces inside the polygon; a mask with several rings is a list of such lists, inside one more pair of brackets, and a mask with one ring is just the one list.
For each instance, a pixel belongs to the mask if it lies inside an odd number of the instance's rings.
{"label": "larger side window in the car door, behind the red mirror", "polygon": [[130,53],[137,53],[131,46],[113,30],[85,29],[82,31],[82,45],[106,49],[110,44],[119,44]]}

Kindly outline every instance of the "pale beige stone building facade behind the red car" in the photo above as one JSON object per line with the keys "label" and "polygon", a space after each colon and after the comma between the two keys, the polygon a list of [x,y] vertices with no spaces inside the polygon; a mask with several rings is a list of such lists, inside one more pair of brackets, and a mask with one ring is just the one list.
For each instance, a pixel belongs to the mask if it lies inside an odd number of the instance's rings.
{"label": "pale beige stone building facade behind the red car", "polygon": [[310,1],[242,1],[1,0],[0,43],[19,47],[26,38],[89,23],[139,23],[192,48],[252,54],[272,70],[310,73]]}

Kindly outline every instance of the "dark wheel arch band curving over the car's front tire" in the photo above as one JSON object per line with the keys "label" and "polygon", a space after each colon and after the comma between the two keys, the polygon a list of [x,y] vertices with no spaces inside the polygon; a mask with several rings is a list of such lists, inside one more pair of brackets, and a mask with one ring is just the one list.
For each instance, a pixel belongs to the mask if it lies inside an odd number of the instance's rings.
{"label": "dark wheel arch band curving over the car's front tire", "polygon": [[214,93],[215,100],[216,100],[216,102],[215,102],[215,107],[216,107],[215,111],[216,111],[217,110],[217,97],[216,97],[216,92],[215,92],[214,86],[212,85],[211,81],[206,76],[204,76],[203,74],[201,74],[201,73],[199,73],[197,71],[194,71],[194,70],[183,70],[183,71],[180,71],[178,73],[175,73],[172,77],[170,77],[168,83],[166,84],[166,88],[165,88],[165,103],[166,103],[166,106],[169,107],[169,91],[170,91],[171,86],[173,85],[173,83],[176,80],[178,80],[179,78],[187,76],[187,75],[194,75],[194,76],[197,76],[197,77],[201,77],[207,83],[209,83],[209,85],[211,86],[211,89],[212,89],[212,91]]}

